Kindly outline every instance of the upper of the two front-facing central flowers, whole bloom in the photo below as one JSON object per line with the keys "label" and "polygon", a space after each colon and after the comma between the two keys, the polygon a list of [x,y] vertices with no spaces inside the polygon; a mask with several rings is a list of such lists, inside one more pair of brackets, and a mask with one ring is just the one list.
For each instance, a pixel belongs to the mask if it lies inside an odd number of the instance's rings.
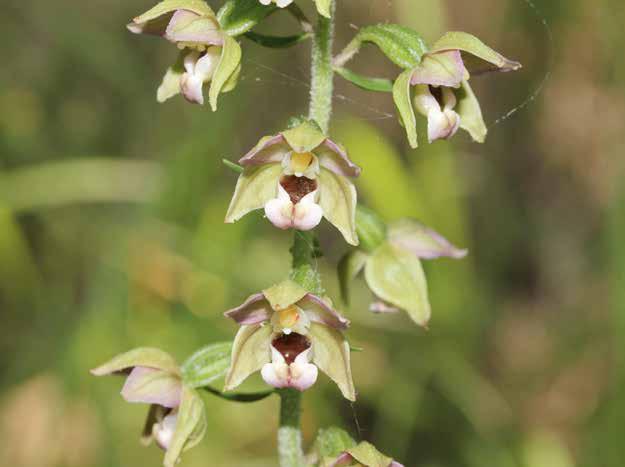
{"label": "upper of the two front-facing central flowers, whole bloom", "polygon": [[226,222],[264,209],[276,227],[310,230],[325,217],[348,243],[358,244],[356,189],[348,177],[357,177],[360,168],[316,124],[305,121],[261,139],[239,163],[245,170]]}

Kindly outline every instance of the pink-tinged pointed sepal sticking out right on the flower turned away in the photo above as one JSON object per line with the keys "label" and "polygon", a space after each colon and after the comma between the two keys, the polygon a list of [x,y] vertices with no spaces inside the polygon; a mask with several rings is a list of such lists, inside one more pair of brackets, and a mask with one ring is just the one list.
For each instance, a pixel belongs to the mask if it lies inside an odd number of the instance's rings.
{"label": "pink-tinged pointed sepal sticking out right on the flower turned away", "polygon": [[389,227],[389,241],[421,259],[462,259],[468,250],[452,245],[438,232],[414,219],[401,219]]}

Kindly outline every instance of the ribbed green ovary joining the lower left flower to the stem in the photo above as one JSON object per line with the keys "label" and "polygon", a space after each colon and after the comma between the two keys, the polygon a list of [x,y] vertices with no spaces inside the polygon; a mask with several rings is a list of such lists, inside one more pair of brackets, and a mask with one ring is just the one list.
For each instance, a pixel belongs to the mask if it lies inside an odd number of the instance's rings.
{"label": "ribbed green ovary joining the lower left flower to the stem", "polygon": [[232,342],[207,345],[191,355],[181,367],[182,378],[192,388],[206,386],[224,376],[230,366]]}

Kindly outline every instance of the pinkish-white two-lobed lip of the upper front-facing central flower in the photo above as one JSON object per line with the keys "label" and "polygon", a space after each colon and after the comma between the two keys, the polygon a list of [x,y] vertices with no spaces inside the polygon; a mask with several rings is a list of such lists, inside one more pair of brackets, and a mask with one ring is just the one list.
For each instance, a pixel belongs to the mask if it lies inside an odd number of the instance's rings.
{"label": "pinkish-white two-lobed lip of the upper front-facing central flower", "polygon": [[286,190],[278,185],[278,197],[265,204],[265,215],[273,225],[283,230],[314,229],[323,217],[323,210],[315,201],[316,196],[317,190],[293,204]]}

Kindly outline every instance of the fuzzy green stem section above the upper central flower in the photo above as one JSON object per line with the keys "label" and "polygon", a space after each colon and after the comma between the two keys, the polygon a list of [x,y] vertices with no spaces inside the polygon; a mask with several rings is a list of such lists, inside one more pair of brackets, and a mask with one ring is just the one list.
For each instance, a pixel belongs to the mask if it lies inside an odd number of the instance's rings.
{"label": "fuzzy green stem section above the upper central flower", "polygon": [[319,124],[324,133],[328,132],[330,116],[332,115],[334,10],[335,2],[333,1],[330,7],[331,18],[319,15],[312,45],[310,111],[308,116]]}

